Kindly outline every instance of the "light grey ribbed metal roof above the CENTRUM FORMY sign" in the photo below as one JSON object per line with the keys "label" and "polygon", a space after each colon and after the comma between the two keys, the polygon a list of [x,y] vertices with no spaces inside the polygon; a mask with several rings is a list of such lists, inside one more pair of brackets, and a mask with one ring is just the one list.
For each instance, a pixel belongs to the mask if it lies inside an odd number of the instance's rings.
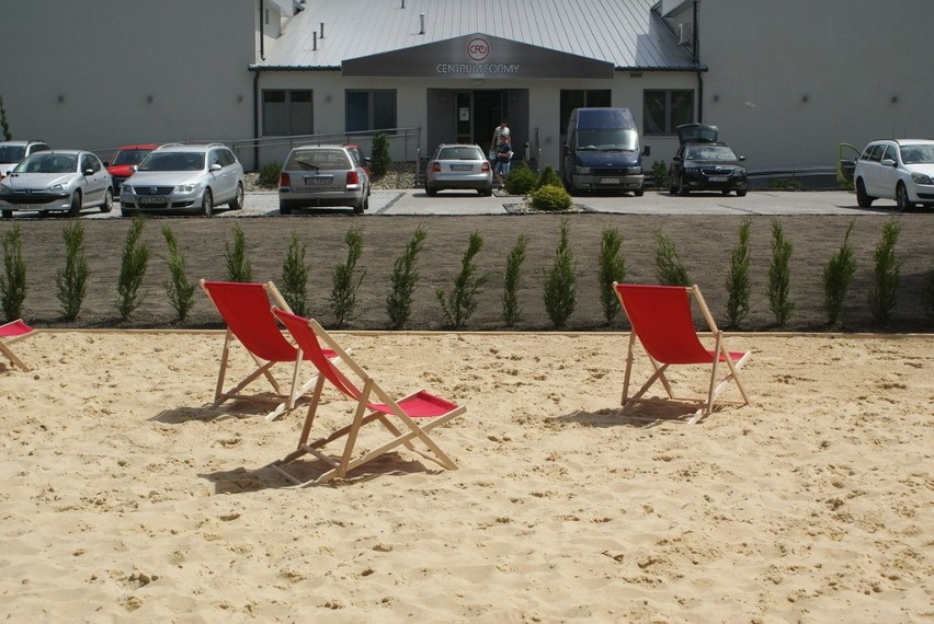
{"label": "light grey ribbed metal roof above the CENTRUM FORMY sign", "polygon": [[[675,35],[652,11],[657,3],[658,0],[306,0],[305,10],[285,24],[278,39],[266,44],[265,58],[253,67],[339,69],[345,59],[483,33],[604,60],[617,69],[697,69],[691,49],[679,46]],[[419,32],[422,14],[424,34]]]}

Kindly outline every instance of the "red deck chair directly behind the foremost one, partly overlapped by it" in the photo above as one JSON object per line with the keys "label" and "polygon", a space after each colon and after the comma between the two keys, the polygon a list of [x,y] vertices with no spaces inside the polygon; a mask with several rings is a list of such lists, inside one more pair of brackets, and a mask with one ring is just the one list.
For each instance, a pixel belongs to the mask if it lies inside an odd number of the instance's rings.
{"label": "red deck chair directly behind the foremost one, partly overlapped by it", "polygon": [[[274,420],[294,409],[296,402],[315,384],[317,375],[305,383],[300,381],[301,362],[307,361],[307,358],[303,357],[301,351],[286,339],[276,323],[275,316],[270,312],[272,303],[288,308],[275,285],[273,282],[244,284],[202,279],[201,287],[217,308],[220,316],[224,317],[224,322],[227,323],[213,407],[230,400],[273,403],[275,407],[266,414],[269,420]],[[270,301],[271,298],[272,302]],[[247,349],[257,368],[236,385],[225,390],[224,382],[227,375],[230,347],[235,340]],[[333,354],[328,357],[333,357]],[[292,367],[292,382],[288,392],[283,392],[280,382],[270,371],[276,363]],[[261,377],[265,378],[272,385],[272,394],[269,392],[262,394],[243,392],[249,384]]]}

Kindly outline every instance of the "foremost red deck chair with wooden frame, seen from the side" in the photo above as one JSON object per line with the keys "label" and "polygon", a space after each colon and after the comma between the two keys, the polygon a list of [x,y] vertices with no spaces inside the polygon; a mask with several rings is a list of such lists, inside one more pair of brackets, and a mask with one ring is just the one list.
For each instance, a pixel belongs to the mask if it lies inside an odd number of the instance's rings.
{"label": "foremost red deck chair with wooden frame, seen from the side", "polygon": [[[343,478],[349,471],[397,447],[406,447],[445,469],[457,469],[454,461],[429,437],[429,431],[464,414],[466,407],[458,406],[424,390],[403,398],[392,400],[316,321],[304,319],[277,308],[273,308],[273,314],[282,321],[303,353],[310,357],[320,374],[311,395],[311,404],[308,406],[308,415],[305,418],[301,435],[298,438],[298,448],[282,460],[271,463],[271,467],[278,471],[292,483],[306,487],[335,477]],[[328,359],[329,351],[321,346],[321,340],[337,353],[338,358],[333,362]],[[348,369],[348,374],[360,380],[360,386],[335,366],[338,362]],[[321,405],[321,392],[326,381],[356,402],[353,420],[350,425],[341,427],[323,438],[308,442],[315,415]],[[372,403],[371,401],[378,401],[379,403]],[[354,447],[357,443],[361,429],[372,423],[378,423],[384,430],[388,430],[390,439],[366,452],[355,453]],[[345,441],[338,459],[323,452],[327,444],[341,439]],[[417,449],[412,443],[414,441],[421,441],[422,444],[428,447],[429,452]],[[320,476],[306,481],[296,477],[286,470],[295,460],[306,454],[315,455],[329,465],[330,470],[327,470]]]}

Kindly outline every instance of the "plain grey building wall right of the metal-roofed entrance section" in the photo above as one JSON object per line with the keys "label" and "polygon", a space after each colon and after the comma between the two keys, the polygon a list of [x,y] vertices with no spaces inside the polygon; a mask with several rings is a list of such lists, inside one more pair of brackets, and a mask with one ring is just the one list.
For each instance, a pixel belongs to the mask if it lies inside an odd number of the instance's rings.
{"label": "plain grey building wall right of the metal-roofed entrance section", "polygon": [[753,170],[833,166],[839,142],[934,138],[932,9],[931,0],[704,0],[704,122]]}

